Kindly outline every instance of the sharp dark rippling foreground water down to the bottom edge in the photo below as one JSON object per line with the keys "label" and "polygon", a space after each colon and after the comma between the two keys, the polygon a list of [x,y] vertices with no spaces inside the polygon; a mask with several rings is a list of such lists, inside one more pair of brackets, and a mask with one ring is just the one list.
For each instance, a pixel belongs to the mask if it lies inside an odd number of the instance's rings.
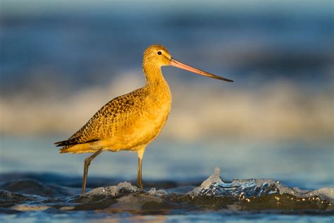
{"label": "sharp dark rippling foreground water down to the bottom edge", "polygon": [[[334,219],[334,188],[302,191],[283,186],[272,179],[223,182],[216,167],[200,186],[191,182],[155,182],[166,189],[140,188],[122,182],[117,186],[94,188],[78,195],[80,188],[65,186],[67,178],[30,174],[6,180],[0,185],[0,219],[45,221],[221,221],[228,219],[290,221],[294,219],[328,221]],[[16,176],[17,177],[17,176]],[[30,179],[22,179],[22,178]],[[104,181],[105,179],[101,179]],[[9,192],[13,191],[13,192]],[[300,217],[302,216],[302,217]]]}

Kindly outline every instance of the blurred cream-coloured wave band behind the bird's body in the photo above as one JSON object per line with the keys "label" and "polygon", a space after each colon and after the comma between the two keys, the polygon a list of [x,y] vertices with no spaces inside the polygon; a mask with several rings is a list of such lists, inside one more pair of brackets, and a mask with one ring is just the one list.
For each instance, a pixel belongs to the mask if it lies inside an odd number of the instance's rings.
{"label": "blurred cream-coloured wave band behind the bird's body", "polygon": [[[72,94],[22,92],[0,97],[1,135],[70,135],[113,97],[144,85],[140,72]],[[276,80],[256,89],[236,83],[170,80],[173,106],[161,138],[328,140],[333,136],[333,81],[321,90]],[[254,80],[255,81],[255,80]],[[250,85],[252,83],[249,83]],[[244,85],[245,87],[245,85]],[[64,90],[66,92],[66,90]]]}

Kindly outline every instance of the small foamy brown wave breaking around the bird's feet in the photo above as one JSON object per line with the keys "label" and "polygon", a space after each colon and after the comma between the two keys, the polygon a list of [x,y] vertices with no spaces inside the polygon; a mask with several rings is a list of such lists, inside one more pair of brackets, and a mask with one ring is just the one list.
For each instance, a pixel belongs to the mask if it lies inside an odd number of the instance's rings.
{"label": "small foamy brown wave breaking around the bird's feet", "polygon": [[[2,213],[48,211],[70,212],[186,213],[189,210],[272,211],[333,215],[334,188],[304,191],[290,188],[273,179],[235,179],[223,182],[216,167],[200,186],[175,185],[173,188],[148,188],[141,191],[131,183],[94,188],[78,195],[80,188],[68,188],[34,180],[7,181],[0,185]],[[29,192],[27,191],[29,190]],[[185,192],[187,191],[188,192]],[[12,192],[16,191],[16,192]],[[44,193],[44,192],[46,193]]]}

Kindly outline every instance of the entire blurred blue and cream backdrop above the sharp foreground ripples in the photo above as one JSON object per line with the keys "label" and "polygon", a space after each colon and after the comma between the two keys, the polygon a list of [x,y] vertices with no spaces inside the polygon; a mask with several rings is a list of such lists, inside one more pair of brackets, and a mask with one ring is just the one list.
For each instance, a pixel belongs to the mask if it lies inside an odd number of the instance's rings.
{"label": "entire blurred blue and cream backdrop above the sharp foreground ripples", "polygon": [[[53,143],[145,84],[142,52],[185,64],[144,155],[144,180],[273,178],[333,186],[333,1],[1,0],[0,172],[81,176],[86,155]],[[137,155],[104,152],[89,176],[135,179]]]}

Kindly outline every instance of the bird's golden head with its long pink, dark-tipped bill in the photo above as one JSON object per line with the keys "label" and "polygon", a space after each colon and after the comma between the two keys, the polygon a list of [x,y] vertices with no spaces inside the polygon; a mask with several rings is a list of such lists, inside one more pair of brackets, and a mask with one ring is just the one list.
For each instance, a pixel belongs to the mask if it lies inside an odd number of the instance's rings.
{"label": "bird's golden head with its long pink, dark-tipped bill", "polygon": [[221,76],[216,76],[212,73],[207,73],[206,71],[201,71],[197,68],[193,68],[191,66],[188,66],[187,64],[183,64],[180,61],[173,59],[166,47],[163,47],[161,45],[151,45],[147,47],[147,49],[145,49],[144,51],[143,58],[144,71],[146,72],[150,69],[161,68],[161,66],[175,66],[186,71],[191,71],[193,73],[198,73],[202,76],[207,76],[209,78],[233,82],[233,80],[223,78]]}

